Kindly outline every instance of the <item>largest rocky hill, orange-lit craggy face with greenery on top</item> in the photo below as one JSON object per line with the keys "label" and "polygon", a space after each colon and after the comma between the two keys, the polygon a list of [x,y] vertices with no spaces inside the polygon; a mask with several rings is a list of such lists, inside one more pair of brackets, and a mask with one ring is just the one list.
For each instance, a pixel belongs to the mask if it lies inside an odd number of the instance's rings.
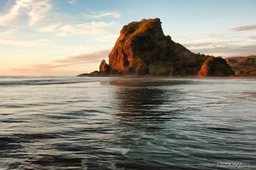
{"label": "largest rocky hill, orange-lit craggy face with greenery on top", "polygon": [[165,36],[160,19],[143,19],[123,27],[109,66],[121,74],[196,75],[203,59]]}

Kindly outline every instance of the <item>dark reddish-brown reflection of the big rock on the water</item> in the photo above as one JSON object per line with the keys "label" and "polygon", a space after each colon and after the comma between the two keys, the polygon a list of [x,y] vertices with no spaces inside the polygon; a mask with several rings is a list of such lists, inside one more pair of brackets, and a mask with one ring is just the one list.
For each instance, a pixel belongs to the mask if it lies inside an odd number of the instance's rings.
{"label": "dark reddish-brown reflection of the big rock on the water", "polygon": [[129,82],[121,79],[111,81],[110,84],[121,86],[115,92],[115,99],[118,101],[118,113],[123,117],[154,114],[153,110],[166,101],[164,89],[149,86],[145,82]]}

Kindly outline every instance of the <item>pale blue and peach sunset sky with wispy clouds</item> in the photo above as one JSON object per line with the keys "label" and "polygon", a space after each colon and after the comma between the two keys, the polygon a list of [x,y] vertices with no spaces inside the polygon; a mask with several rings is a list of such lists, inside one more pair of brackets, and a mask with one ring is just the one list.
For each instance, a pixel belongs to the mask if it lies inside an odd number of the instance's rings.
{"label": "pale blue and peach sunset sky with wispy clouds", "polygon": [[195,53],[256,55],[255,0],[0,0],[0,75],[99,69],[123,25],[160,18]]}

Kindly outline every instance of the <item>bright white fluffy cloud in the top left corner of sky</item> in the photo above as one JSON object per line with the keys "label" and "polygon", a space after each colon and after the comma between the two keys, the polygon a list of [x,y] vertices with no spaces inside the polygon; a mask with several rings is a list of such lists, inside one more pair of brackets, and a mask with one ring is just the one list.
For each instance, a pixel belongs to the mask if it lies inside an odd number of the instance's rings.
{"label": "bright white fluffy cloud in the top left corner of sky", "polygon": [[31,26],[43,19],[51,8],[49,0],[16,0],[9,11],[0,15],[0,25],[7,25],[25,13]]}

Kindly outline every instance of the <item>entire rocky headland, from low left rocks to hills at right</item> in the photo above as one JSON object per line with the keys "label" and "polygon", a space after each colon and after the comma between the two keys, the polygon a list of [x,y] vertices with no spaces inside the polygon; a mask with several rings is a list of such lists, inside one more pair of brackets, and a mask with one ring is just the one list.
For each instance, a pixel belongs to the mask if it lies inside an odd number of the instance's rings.
{"label": "entire rocky headland, from low left rocks to hills at right", "polygon": [[[172,41],[169,35],[164,35],[159,18],[142,19],[123,26],[115,46],[109,53],[109,64],[103,59],[99,71],[77,76],[226,77],[235,75],[235,71],[237,75],[256,75],[255,59],[256,57],[249,58],[243,67],[237,68],[237,65],[243,63],[240,62],[243,59],[237,61],[238,59],[233,57],[225,60],[222,57],[193,53],[183,45]],[[246,62],[252,65],[249,70],[245,67]]]}

